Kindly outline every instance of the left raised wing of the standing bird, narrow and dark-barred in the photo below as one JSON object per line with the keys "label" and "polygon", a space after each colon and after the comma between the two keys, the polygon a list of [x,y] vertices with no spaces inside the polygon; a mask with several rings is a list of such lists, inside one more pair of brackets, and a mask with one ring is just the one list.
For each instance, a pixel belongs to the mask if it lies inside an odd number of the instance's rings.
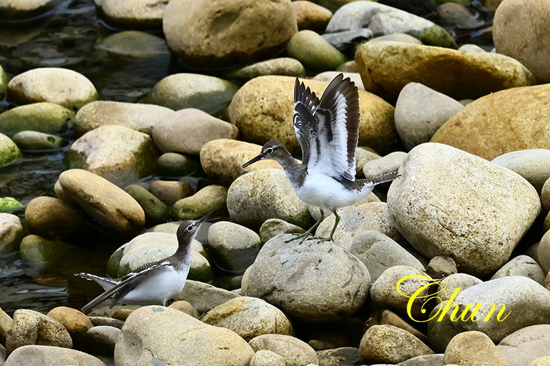
{"label": "left raised wing of the standing bird, narrow and dark-barred", "polygon": [[319,98],[296,78],[294,84],[294,133],[302,148],[302,163],[307,165],[309,159],[309,130],[314,114],[319,106]]}

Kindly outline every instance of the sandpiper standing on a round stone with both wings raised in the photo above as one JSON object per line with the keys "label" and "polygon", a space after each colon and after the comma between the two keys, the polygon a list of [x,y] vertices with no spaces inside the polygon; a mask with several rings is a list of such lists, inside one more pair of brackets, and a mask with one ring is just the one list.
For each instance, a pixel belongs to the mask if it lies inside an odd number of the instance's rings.
{"label": "sandpiper standing on a round stone with both wings raised", "polygon": [[[355,150],[359,139],[359,94],[355,83],[342,73],[334,78],[321,100],[296,78],[294,86],[294,131],[300,148],[302,163],[298,163],[281,141],[267,141],[260,155],[243,168],[262,159],[280,163],[298,197],[320,207],[321,218],[305,233],[289,240],[305,240],[325,218],[323,211],[336,216],[329,238],[340,222],[336,209],[351,205],[374,186],[392,181],[399,172],[390,172],[368,179],[355,179]],[[302,240],[302,241],[303,241]]]}

